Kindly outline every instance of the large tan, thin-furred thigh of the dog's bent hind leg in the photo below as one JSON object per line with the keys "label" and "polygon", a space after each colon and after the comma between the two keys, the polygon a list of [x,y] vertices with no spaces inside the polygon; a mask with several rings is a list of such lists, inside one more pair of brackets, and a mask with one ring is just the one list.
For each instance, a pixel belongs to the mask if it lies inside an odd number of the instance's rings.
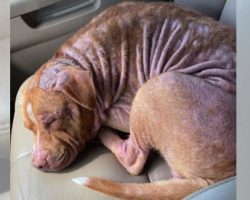
{"label": "large tan, thin-furred thigh of the dog's bent hind leg", "polygon": [[219,181],[235,175],[235,107],[235,93],[206,79],[167,72],[137,92],[130,129],[179,177]]}

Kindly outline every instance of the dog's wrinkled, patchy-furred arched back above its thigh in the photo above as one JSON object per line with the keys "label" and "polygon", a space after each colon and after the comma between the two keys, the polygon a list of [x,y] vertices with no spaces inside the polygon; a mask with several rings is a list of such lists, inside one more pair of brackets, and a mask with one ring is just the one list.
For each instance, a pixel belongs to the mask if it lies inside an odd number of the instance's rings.
{"label": "dog's wrinkled, patchy-furred arched back above its thigh", "polygon": [[95,17],[56,57],[75,60],[95,77],[117,77],[109,88],[119,81],[139,88],[180,71],[235,92],[235,42],[233,29],[200,13],[171,3],[125,2]]}

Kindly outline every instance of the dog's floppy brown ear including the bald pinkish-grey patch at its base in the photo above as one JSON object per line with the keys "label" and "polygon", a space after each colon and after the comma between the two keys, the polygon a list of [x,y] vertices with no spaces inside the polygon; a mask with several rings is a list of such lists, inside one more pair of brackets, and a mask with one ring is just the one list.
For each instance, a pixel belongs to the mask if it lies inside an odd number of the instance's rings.
{"label": "dog's floppy brown ear including the bald pinkish-grey patch at its base", "polygon": [[89,110],[95,108],[96,91],[89,71],[74,66],[55,65],[43,70],[39,87],[49,91],[60,91]]}

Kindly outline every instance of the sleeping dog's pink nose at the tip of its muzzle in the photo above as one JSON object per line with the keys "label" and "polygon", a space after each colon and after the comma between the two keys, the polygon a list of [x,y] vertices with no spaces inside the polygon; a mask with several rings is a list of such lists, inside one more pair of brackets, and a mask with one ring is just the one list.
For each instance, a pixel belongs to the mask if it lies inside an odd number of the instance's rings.
{"label": "sleeping dog's pink nose at the tip of its muzzle", "polygon": [[46,169],[48,152],[44,150],[35,151],[32,154],[32,164],[39,169]]}

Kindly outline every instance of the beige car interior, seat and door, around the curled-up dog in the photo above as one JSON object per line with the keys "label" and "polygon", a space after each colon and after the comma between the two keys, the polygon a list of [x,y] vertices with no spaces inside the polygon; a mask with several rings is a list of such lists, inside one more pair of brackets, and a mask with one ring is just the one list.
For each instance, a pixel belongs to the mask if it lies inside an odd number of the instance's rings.
{"label": "beige car interior, seat and door, around the curled-up dog", "polygon": [[[129,175],[115,157],[97,142],[91,142],[83,156],[66,170],[58,173],[44,173],[32,167],[32,134],[24,128],[21,116],[22,88],[27,79],[79,28],[86,25],[105,8],[120,0],[11,0],[10,35],[0,35],[0,45],[11,37],[11,199],[111,199],[111,197],[76,186],[72,181],[81,175],[95,176],[122,182],[146,183],[170,178],[170,169],[157,154],[153,153],[146,169],[139,176]],[[149,2],[149,1],[147,1]],[[222,23],[236,27],[235,0],[174,0],[172,3],[199,11]],[[8,70],[6,68],[6,70]],[[9,71],[6,71],[9,73]],[[25,81],[26,80],[26,81]],[[2,85],[1,85],[2,87]],[[8,102],[6,102],[6,105]],[[0,108],[1,109],[1,108]],[[8,109],[5,107],[4,109]],[[8,118],[8,117],[7,117]],[[9,122],[3,121],[2,124]],[[3,128],[2,128],[3,127]],[[0,125],[0,134],[5,133]],[[0,138],[2,142],[2,137]],[[4,142],[4,141],[3,141]],[[2,143],[1,143],[2,144]],[[7,165],[8,146],[0,159]],[[5,152],[2,155],[2,152]],[[5,165],[4,164],[4,165]],[[2,165],[2,161],[1,161]],[[2,171],[2,166],[1,170]],[[1,172],[2,173],[2,172]],[[2,175],[1,175],[2,176]],[[0,180],[1,182],[1,180]],[[192,200],[234,200],[236,199],[235,177],[224,180],[206,189],[189,195]],[[2,183],[1,183],[2,184]],[[6,182],[8,185],[8,182]],[[3,189],[2,189],[3,188]],[[9,188],[0,187],[0,193],[8,194]]]}

